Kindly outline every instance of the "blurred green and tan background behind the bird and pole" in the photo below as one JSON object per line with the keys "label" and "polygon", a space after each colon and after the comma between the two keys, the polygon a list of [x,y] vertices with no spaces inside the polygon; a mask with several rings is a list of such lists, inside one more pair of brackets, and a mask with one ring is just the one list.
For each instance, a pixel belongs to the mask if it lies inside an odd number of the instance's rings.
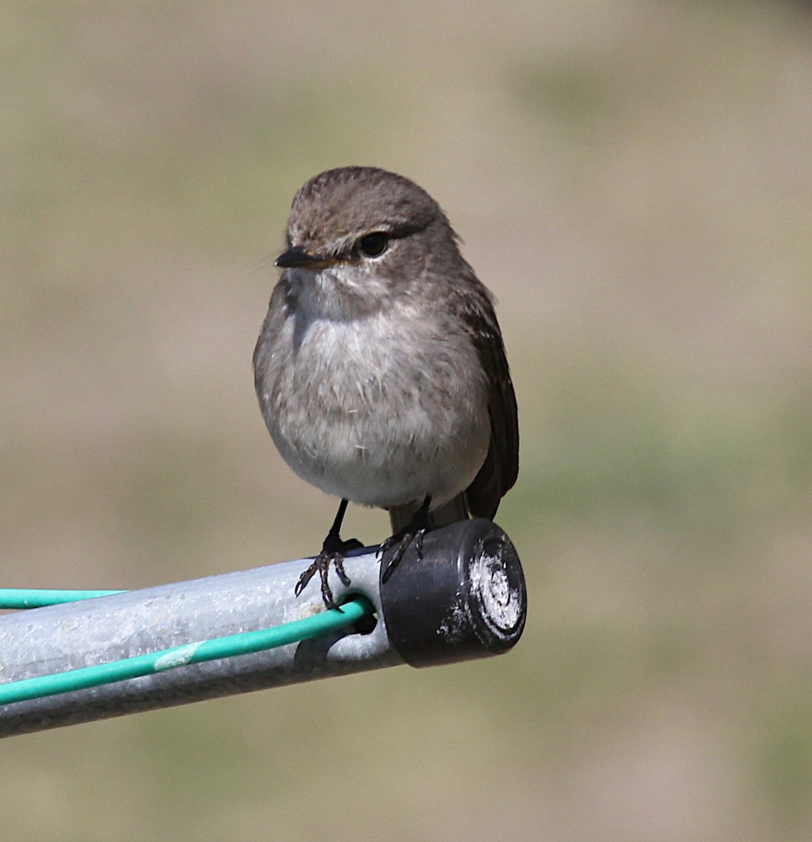
{"label": "blurred green and tan background behind the bird and pole", "polygon": [[250,359],[292,195],[367,163],[499,299],[531,598],[488,662],[5,740],[4,839],[812,838],[807,4],[7,0],[0,43],[3,584],[318,550]]}

